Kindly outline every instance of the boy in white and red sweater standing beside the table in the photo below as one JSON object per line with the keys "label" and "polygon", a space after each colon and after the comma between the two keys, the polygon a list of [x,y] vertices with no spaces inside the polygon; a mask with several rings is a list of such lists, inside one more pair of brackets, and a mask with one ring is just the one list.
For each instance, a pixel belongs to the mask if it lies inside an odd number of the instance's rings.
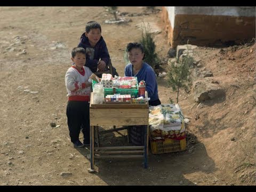
{"label": "boy in white and red sweater standing beside the table", "polygon": [[[67,118],[71,142],[74,147],[90,145],[90,115],[89,101],[91,84],[88,82],[92,75],[90,68],[85,67],[86,51],[83,47],[75,47],[71,52],[71,60],[74,65],[68,68],[65,76],[68,104]],[[79,140],[79,133],[82,128],[84,142]]]}

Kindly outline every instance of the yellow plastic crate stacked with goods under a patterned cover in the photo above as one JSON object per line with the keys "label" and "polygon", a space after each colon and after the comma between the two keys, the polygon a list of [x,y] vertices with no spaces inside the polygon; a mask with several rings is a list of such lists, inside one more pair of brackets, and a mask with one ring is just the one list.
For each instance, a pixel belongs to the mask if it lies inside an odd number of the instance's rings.
{"label": "yellow plastic crate stacked with goods under a patterned cover", "polygon": [[184,116],[179,105],[149,106],[149,133],[153,154],[185,150]]}

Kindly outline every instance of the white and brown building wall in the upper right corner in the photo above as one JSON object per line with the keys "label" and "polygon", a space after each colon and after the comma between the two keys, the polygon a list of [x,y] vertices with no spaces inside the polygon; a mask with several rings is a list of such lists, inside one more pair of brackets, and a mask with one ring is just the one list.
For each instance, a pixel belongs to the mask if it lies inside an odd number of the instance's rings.
{"label": "white and brown building wall in the upper right corner", "polygon": [[255,7],[163,7],[162,18],[172,47],[179,44],[228,46],[255,38]]}

